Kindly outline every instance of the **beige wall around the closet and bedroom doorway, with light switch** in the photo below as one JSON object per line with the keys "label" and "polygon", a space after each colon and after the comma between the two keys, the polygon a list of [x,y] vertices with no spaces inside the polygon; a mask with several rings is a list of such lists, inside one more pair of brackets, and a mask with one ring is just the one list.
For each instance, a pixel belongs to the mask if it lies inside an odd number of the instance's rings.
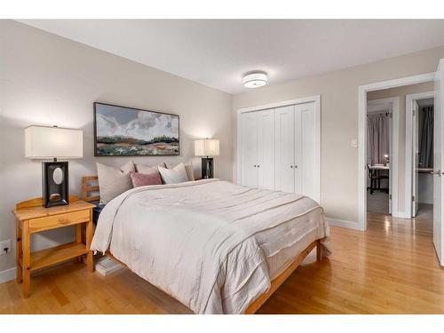
{"label": "beige wall around the closet and bedroom doorway, with light switch", "polygon": [[329,218],[357,222],[358,171],[361,167],[358,168],[358,149],[351,147],[351,141],[358,138],[358,86],[432,72],[440,58],[444,58],[444,47],[234,95],[234,177],[236,111],[239,108],[321,95],[321,204]]}

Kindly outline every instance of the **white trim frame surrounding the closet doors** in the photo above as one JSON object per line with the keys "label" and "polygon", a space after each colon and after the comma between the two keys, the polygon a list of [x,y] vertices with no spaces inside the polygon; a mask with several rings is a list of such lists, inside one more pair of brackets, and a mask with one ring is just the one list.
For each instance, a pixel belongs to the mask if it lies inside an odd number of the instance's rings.
{"label": "white trim frame surrounding the closet doors", "polygon": [[314,178],[315,184],[314,187],[316,188],[316,194],[315,197],[312,199],[316,202],[321,201],[321,95],[314,95],[305,97],[302,99],[289,99],[284,100],[280,102],[275,103],[269,103],[264,105],[259,105],[256,107],[243,107],[237,110],[236,113],[236,123],[237,123],[237,144],[236,144],[236,150],[237,150],[237,161],[236,161],[236,179],[235,182],[237,184],[242,183],[242,174],[240,172],[242,168],[242,155],[241,155],[241,114],[246,112],[254,112],[259,110],[265,110],[268,108],[276,108],[276,107],[287,107],[289,105],[296,105],[296,104],[305,104],[305,103],[314,103],[314,131],[315,131],[315,162],[314,162],[314,174],[317,175],[317,177]]}

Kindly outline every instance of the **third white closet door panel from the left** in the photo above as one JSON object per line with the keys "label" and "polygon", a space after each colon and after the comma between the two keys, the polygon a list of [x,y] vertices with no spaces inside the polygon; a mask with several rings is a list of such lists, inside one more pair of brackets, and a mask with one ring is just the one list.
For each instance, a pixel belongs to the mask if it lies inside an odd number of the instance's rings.
{"label": "third white closet door panel from the left", "polygon": [[274,109],[275,190],[295,191],[295,106]]}

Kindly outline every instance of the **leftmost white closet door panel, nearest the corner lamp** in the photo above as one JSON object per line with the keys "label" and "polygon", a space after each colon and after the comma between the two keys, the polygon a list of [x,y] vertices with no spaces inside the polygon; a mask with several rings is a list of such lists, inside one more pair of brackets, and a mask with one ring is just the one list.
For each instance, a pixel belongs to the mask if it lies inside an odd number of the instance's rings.
{"label": "leftmost white closet door panel, nearest the corner lamp", "polygon": [[258,113],[241,115],[241,182],[244,186],[258,186]]}

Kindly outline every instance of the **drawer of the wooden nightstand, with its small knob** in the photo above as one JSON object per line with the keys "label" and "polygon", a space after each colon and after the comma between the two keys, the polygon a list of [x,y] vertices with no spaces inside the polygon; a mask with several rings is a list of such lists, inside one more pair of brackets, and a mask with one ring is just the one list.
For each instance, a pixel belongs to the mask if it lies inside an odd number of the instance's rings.
{"label": "drawer of the wooden nightstand, with its small knob", "polygon": [[50,217],[35,218],[29,220],[29,233],[37,233],[60,226],[71,226],[80,222],[88,222],[89,220],[90,210],[79,210]]}

